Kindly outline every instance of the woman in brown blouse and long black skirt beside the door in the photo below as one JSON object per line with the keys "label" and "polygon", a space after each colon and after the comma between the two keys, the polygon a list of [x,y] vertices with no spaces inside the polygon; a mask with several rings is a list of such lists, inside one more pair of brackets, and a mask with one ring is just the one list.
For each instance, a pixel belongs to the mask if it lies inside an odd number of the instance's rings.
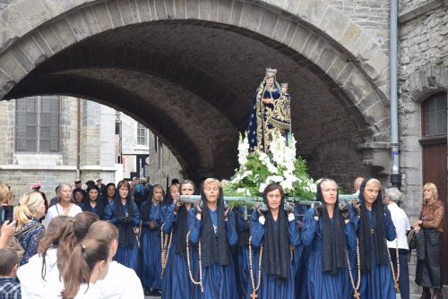
{"label": "woman in brown blouse and long black skirt beside the door", "polygon": [[437,187],[433,183],[423,186],[423,206],[419,220],[414,224],[416,233],[423,229],[425,236],[425,260],[417,260],[416,283],[423,286],[420,298],[442,298],[442,239],[444,235],[444,203],[439,201]]}

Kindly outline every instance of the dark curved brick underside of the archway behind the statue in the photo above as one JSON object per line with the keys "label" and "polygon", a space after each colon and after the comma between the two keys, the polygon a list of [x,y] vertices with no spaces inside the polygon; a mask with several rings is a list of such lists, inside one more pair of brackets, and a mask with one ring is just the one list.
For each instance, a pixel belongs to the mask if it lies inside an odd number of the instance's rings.
{"label": "dark curved brick underside of the archway behind the statue", "polygon": [[[237,132],[246,130],[268,66],[289,82],[300,153],[311,155],[322,140],[362,142],[371,134],[358,108],[306,58],[253,32],[212,25],[159,21],[99,33],[39,64],[4,98],[70,94],[124,110],[195,177],[197,169],[227,177],[237,167]],[[233,161],[216,169],[222,152],[234,153]]]}

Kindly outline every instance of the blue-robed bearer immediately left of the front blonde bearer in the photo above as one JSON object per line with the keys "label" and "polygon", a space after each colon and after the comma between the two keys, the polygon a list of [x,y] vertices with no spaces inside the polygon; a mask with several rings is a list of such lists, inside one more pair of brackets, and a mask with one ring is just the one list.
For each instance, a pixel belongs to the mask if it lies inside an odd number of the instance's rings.
{"label": "blue-robed bearer immediately left of the front blonde bearer", "polygon": [[[185,180],[179,186],[180,194],[193,195],[196,188],[193,181]],[[188,233],[188,211],[191,203],[177,201],[167,209],[163,232],[171,231],[172,243],[169,248],[167,266],[162,278],[162,298],[200,298],[201,290],[188,276],[186,234]],[[197,265],[197,246],[189,244],[189,256],[192,266]],[[193,267],[192,267],[193,268]],[[192,269],[194,279],[198,277],[198,267]]]}

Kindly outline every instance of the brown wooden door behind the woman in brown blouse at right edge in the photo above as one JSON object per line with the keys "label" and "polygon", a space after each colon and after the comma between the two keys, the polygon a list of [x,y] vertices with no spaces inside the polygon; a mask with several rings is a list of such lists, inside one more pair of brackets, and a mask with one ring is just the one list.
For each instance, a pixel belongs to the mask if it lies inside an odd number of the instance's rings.
{"label": "brown wooden door behind the woman in brown blouse at right edge", "polygon": [[[443,138],[421,141],[423,146],[423,184],[428,182],[437,186],[439,200],[444,202],[444,253],[442,254],[444,268],[444,284],[448,284],[448,214],[446,201],[447,163],[446,136]],[[422,184],[422,185],[423,185]]]}

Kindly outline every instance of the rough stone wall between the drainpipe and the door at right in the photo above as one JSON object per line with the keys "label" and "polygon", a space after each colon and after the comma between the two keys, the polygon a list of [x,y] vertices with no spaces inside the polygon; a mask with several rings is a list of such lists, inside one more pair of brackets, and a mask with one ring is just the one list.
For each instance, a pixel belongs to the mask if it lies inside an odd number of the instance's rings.
{"label": "rough stone wall between the drainpipe and the door at right", "polygon": [[[401,11],[435,1],[401,1]],[[402,22],[399,28],[399,123],[404,209],[418,217],[422,198],[421,102],[448,88],[448,5]]]}

